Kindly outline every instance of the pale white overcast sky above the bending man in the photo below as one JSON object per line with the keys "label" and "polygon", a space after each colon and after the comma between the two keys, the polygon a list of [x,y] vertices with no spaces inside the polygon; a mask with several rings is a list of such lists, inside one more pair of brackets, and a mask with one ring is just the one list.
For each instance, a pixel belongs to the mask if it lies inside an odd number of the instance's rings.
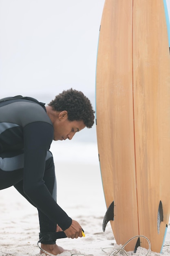
{"label": "pale white overcast sky above the bending man", "polygon": [[0,0],[0,98],[53,99],[71,87],[94,94],[103,6],[104,0]]}

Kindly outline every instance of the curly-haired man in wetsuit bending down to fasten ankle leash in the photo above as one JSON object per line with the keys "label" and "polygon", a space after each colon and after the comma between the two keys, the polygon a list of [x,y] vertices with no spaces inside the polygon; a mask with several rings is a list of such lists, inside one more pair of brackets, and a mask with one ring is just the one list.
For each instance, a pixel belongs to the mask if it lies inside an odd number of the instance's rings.
{"label": "curly-haired man in wetsuit bending down to fasten ankle leash", "polygon": [[[82,237],[82,227],[56,203],[53,140],[72,139],[94,124],[91,102],[82,92],[66,90],[44,106],[29,97],[0,100],[0,189],[14,186],[38,209],[41,248],[50,254],[64,251],[55,232]],[[42,251],[40,251],[42,253]]]}

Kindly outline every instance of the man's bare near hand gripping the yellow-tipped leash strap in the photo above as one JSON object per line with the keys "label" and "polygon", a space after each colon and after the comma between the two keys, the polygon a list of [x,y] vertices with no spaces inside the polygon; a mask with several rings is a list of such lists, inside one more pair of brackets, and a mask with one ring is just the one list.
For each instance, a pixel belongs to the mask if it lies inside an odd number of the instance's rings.
{"label": "man's bare near hand gripping the yellow-tipped leash strap", "polygon": [[72,220],[71,226],[64,230],[64,233],[68,238],[78,238],[82,237],[82,227],[79,225],[79,223],[75,220]]}

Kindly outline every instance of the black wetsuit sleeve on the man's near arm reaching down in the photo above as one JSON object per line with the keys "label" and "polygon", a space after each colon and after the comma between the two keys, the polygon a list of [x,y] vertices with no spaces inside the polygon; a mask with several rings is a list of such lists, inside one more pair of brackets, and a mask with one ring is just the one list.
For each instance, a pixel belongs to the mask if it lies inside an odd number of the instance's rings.
{"label": "black wetsuit sleeve on the man's near arm reaching down", "polygon": [[24,193],[46,216],[63,230],[72,220],[55,202],[43,181],[46,152],[53,140],[53,126],[46,122],[35,122],[24,127]]}

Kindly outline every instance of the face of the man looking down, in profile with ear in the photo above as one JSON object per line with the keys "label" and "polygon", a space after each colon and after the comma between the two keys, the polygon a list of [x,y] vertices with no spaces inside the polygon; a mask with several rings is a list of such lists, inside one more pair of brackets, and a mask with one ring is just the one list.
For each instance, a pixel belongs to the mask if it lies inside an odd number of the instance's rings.
{"label": "face of the man looking down, in profile with ear", "polygon": [[72,139],[76,132],[84,129],[86,126],[81,121],[68,121],[67,112],[60,112],[59,117],[53,123],[54,140]]}

